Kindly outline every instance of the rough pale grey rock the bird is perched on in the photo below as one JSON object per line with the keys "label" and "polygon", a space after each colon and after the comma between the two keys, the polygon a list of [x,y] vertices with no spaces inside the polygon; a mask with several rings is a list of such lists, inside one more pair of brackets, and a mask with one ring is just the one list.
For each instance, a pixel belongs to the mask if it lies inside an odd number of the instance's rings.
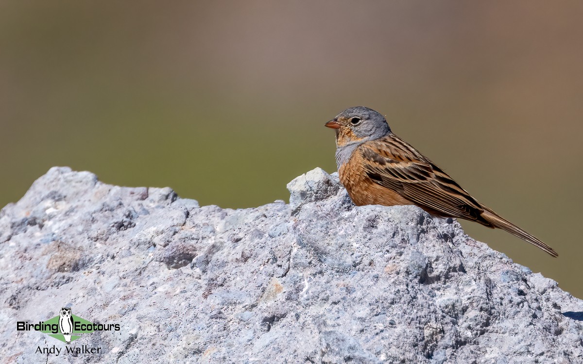
{"label": "rough pale grey rock the bird is perched on", "polygon": [[[290,204],[199,207],[52,168],[0,212],[5,363],[583,363],[583,301],[417,207],[322,169]],[[61,307],[120,331],[64,342]]]}

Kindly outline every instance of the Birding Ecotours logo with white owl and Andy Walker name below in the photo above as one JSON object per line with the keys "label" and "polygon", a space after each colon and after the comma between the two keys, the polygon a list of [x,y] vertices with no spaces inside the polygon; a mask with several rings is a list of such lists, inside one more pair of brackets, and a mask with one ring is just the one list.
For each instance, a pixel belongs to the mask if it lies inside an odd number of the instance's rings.
{"label": "Birding Ecotours logo with white owl and Andy Walker name below", "polygon": [[[93,333],[94,331],[120,331],[121,327],[118,323],[94,324],[91,321],[85,320],[82,317],[76,316],[71,312],[70,307],[61,308],[59,316],[52,317],[46,321],[38,321],[38,323],[29,323],[29,321],[17,321],[17,331],[40,331],[48,334],[57,340],[70,345],[72,341],[78,340],[83,335]],[[87,345],[77,347],[66,346],[66,353],[69,354],[98,354],[101,348],[89,348]],[[52,347],[37,348],[36,352],[41,354],[56,354],[61,353],[61,348],[52,345]]]}

